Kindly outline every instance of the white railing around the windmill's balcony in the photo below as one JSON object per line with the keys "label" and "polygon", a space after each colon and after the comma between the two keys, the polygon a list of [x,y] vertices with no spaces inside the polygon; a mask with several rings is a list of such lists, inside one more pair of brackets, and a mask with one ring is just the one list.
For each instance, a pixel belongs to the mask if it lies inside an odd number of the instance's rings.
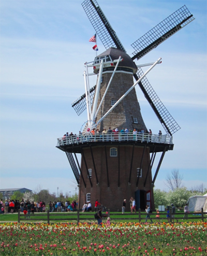
{"label": "white railing around the windmill's balcony", "polygon": [[173,144],[172,136],[149,133],[95,133],[66,136],[57,139],[57,147],[73,144],[84,144],[95,141],[138,141],[140,143]]}

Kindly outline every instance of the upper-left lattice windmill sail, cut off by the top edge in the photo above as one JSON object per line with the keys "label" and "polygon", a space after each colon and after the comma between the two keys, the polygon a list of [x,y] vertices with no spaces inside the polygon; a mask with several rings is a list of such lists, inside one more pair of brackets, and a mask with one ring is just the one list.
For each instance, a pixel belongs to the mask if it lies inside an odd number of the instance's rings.
{"label": "upper-left lattice windmill sail, cut off by the top edge", "polygon": [[85,0],[82,7],[104,47],[114,47],[126,52],[96,0]]}

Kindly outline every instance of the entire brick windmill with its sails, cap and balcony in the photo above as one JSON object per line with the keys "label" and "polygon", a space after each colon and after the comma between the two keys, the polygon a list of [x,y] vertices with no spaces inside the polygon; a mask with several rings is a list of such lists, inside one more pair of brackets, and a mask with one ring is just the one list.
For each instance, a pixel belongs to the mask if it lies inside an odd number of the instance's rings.
{"label": "entire brick windmill with its sails, cap and balcony", "polygon": [[[131,45],[135,49],[131,58],[98,3],[85,0],[82,6],[106,51],[93,62],[85,63],[85,94],[72,104],[78,115],[87,109],[87,121],[81,133],[58,139],[57,148],[66,153],[77,180],[79,205],[88,201],[93,205],[98,199],[111,210],[117,210],[121,209],[124,198],[128,201],[133,196],[137,208],[144,209],[146,204],[154,207],[154,183],[165,153],[173,150],[172,134],[180,126],[145,77],[161,62],[160,59],[144,65],[137,65],[135,60],[193,21],[193,15],[186,6],[172,13]],[[143,73],[142,66],[150,68]],[[92,88],[88,79],[92,75],[88,73],[90,67],[93,67],[93,74],[97,75],[97,83]],[[147,132],[135,92],[137,84],[166,135]],[[97,129],[108,131],[109,127],[117,130],[94,133]],[[158,152],[161,152],[161,156],[152,177]],[[80,163],[77,154],[81,154]]]}

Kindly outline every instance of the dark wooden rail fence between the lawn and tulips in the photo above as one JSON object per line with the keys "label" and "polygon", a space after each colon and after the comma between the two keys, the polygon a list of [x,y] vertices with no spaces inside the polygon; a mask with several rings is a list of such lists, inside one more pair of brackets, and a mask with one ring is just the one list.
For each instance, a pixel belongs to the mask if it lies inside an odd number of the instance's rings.
{"label": "dark wooden rail fence between the lawn and tulips", "polygon": [[[194,214],[194,212],[187,213],[186,214],[186,219],[188,219],[188,220],[190,220],[190,219],[198,219],[198,220],[204,221],[204,214],[207,214],[207,212],[203,212],[203,208],[202,208],[201,212],[200,212],[200,214],[201,214],[200,216],[198,216],[198,217],[191,217],[191,216],[188,217],[189,215],[192,215],[192,214]],[[128,217],[127,217],[127,215],[128,215]],[[152,215],[156,215],[156,212],[151,214],[151,216]],[[175,220],[178,220],[178,219],[181,219],[181,218],[183,219],[183,215],[184,215],[183,212],[176,212],[174,219]],[[25,216],[27,218],[25,218]],[[39,216],[43,216],[43,217],[47,216],[47,218],[42,218],[42,219],[33,218],[35,216],[38,216],[38,217]],[[59,218],[59,219],[58,218],[53,218],[54,216],[62,216],[62,218]],[[75,216],[75,217],[73,218],[73,216]],[[92,216],[92,217],[88,218],[89,216],[90,217]],[[146,212],[141,212],[140,209],[138,210],[138,214],[137,215],[135,215],[135,214],[130,215],[127,212],[125,212],[124,215],[123,214],[119,214],[119,213],[113,213],[112,214],[112,213],[110,213],[110,210],[108,210],[107,214],[104,214],[104,216],[105,217],[112,217],[112,220],[116,220],[116,221],[119,221],[119,220],[130,220],[130,221],[135,221],[135,222],[136,221],[137,222],[138,221],[139,222],[145,222],[145,220],[146,220]],[[113,216],[122,216],[122,218],[117,218],[117,217],[113,218]],[[144,216],[144,217],[142,217],[142,216]],[[159,216],[160,216],[159,218],[156,218],[156,217],[151,218],[150,217],[150,219],[156,220],[156,222],[160,222],[161,220],[167,221],[167,222],[168,221],[172,222],[172,220],[173,220],[173,218],[172,218],[172,210],[171,209],[170,209],[170,212],[169,212],[169,216],[170,216],[169,218],[166,217],[166,212],[160,212]],[[179,218],[179,216],[182,216],[182,217]],[[21,218],[21,217],[24,217],[24,218]],[[63,218],[63,217],[67,217],[67,218]],[[77,212],[69,212],[68,215],[67,214],[63,214],[63,213],[52,213],[51,214],[51,212],[49,212],[49,210],[45,214],[22,215],[20,210],[19,210],[18,211],[18,222],[20,223],[21,221],[25,222],[25,221],[28,221],[28,220],[31,220],[31,221],[34,221],[34,220],[35,221],[45,221],[45,222],[47,221],[48,224],[50,224],[50,222],[55,222],[55,221],[67,221],[68,222],[68,221],[71,221],[71,220],[73,220],[73,221],[75,220],[75,221],[77,221],[77,224],[79,224],[79,222],[84,221],[84,220],[94,221],[95,219],[94,219],[94,212],[90,212],[89,214],[81,212],[81,214],[80,214],[80,210],[79,209],[77,210]],[[142,220],[144,220],[144,221],[142,221]]]}

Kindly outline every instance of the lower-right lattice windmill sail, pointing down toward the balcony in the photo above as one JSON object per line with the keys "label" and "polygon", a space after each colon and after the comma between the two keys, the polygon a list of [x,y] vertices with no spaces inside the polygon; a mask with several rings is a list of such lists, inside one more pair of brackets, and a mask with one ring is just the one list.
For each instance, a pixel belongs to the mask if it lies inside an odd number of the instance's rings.
{"label": "lower-right lattice windmill sail, pointing down toward the balcony", "polygon": [[[135,79],[138,80],[143,75],[142,69],[139,67],[137,74],[134,75]],[[139,87],[141,88],[145,98],[150,103],[150,106],[154,110],[156,116],[158,117],[160,123],[164,127],[166,133],[171,135],[181,127],[176,123],[173,117],[170,115],[164,104],[160,101],[156,92],[152,88],[150,82],[144,77],[139,83]]]}

